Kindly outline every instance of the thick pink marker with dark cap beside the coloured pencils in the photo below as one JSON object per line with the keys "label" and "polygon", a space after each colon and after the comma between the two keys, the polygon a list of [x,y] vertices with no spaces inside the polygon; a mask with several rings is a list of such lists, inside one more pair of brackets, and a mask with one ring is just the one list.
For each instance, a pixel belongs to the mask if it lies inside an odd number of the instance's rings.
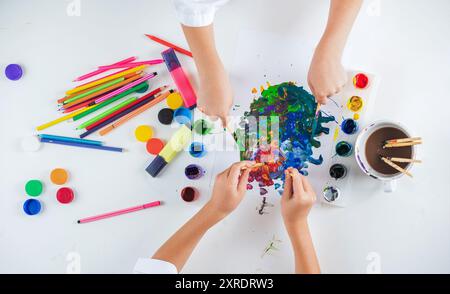
{"label": "thick pink marker with dark cap beside the coloured pencils", "polygon": [[175,54],[175,50],[172,48],[167,49],[162,53],[162,57],[166,62],[172,79],[177,85],[181,97],[183,97],[184,106],[189,109],[195,108],[197,106],[197,96],[195,95],[194,89],[184,73],[183,68],[181,67],[180,61]]}

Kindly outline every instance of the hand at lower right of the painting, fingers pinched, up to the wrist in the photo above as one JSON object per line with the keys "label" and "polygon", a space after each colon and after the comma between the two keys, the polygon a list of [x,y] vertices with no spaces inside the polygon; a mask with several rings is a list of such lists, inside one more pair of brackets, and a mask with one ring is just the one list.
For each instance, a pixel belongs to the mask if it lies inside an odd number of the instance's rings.
{"label": "hand at lower right of the painting, fingers pinched, up to the wrist", "polygon": [[285,174],[281,214],[289,231],[306,222],[309,211],[316,201],[316,193],[306,177],[302,176],[297,169],[289,168]]}

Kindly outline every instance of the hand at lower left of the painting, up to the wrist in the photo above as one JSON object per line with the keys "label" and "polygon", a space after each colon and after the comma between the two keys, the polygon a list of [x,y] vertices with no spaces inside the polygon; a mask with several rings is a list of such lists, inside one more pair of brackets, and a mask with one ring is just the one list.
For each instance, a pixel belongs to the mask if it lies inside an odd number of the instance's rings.
{"label": "hand at lower left of the painting, up to the wrist", "polygon": [[244,198],[252,161],[236,162],[216,176],[211,199],[206,204],[219,219],[231,213]]}

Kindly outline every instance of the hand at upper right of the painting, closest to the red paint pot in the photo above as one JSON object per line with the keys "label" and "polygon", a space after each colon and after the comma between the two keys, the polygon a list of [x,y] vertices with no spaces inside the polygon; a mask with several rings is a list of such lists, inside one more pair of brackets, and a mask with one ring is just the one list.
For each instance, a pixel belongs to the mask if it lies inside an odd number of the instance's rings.
{"label": "hand at upper right of the painting, closest to the red paint pot", "polygon": [[339,93],[347,83],[347,74],[341,58],[330,50],[318,47],[314,53],[308,72],[308,84],[320,104]]}

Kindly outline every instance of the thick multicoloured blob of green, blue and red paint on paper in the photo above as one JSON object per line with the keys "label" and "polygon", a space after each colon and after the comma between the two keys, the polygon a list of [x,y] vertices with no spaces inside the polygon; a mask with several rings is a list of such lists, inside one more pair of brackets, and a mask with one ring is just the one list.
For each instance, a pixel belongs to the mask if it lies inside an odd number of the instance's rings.
{"label": "thick multicoloured blob of green, blue and red paint on paper", "polygon": [[289,167],[307,175],[309,163],[322,164],[322,155],[312,157],[313,148],[320,147],[316,137],[328,134],[329,128],[322,124],[335,118],[323,112],[316,118],[316,108],[314,96],[292,82],[269,86],[253,100],[235,132],[241,160],[265,163],[250,172],[250,183],[256,181],[260,188],[272,186],[274,180],[284,179]]}

